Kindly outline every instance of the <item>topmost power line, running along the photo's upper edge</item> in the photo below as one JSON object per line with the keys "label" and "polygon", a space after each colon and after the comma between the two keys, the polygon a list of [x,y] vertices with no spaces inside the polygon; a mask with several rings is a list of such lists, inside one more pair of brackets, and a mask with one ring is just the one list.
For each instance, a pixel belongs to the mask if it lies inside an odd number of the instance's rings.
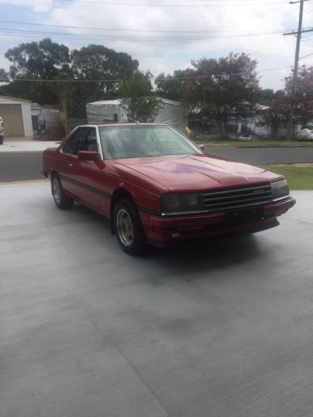
{"label": "topmost power line, running along the photo's upper edge", "polygon": [[[166,4],[166,3],[116,3],[115,1],[94,1],[94,0],[61,0],[61,1],[69,1],[70,3],[92,3],[92,4],[107,4],[112,6],[141,6],[141,7],[232,7],[232,6],[259,6],[263,4],[280,4],[280,3],[288,3],[285,0],[279,1],[260,1],[255,3],[219,3],[219,4]],[[229,1],[229,0],[228,0]],[[243,0],[241,0],[243,1]]]}

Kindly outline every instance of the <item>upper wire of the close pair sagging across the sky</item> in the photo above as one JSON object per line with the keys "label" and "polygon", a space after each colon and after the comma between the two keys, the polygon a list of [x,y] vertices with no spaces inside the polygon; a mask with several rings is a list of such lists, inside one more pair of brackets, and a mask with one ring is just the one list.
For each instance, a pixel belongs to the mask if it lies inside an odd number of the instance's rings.
{"label": "upper wire of the close pair sagging across the sky", "polygon": [[[195,0],[194,0],[195,1]],[[200,0],[203,1],[203,0]],[[234,30],[224,30],[224,31],[186,31],[183,29],[177,30],[160,30],[160,29],[125,29],[125,28],[95,28],[90,26],[66,26],[62,24],[45,24],[45,23],[35,23],[35,22],[16,22],[13,20],[0,20],[0,23],[10,23],[10,24],[24,24],[30,26],[49,26],[54,28],[70,28],[70,29],[88,29],[93,31],[120,31],[120,32],[152,32],[152,33],[250,33],[253,30],[246,31],[234,31]],[[268,31],[281,31],[281,29],[264,29],[264,32]],[[262,32],[263,32],[262,31]],[[259,31],[261,32],[261,31]]]}

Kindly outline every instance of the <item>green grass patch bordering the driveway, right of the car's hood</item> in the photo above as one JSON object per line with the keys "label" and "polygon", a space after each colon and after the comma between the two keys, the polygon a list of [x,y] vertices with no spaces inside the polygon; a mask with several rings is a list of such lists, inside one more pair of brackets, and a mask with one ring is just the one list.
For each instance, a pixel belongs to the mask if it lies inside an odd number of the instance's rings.
{"label": "green grass patch bordering the driveway, right of the car's hood", "polygon": [[312,167],[295,167],[281,165],[258,165],[286,177],[291,190],[313,190],[313,166]]}

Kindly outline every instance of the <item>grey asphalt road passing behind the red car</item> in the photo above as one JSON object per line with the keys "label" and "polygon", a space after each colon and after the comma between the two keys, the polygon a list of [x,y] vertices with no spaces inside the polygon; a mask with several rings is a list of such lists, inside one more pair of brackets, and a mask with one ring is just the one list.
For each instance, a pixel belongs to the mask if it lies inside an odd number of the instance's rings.
{"label": "grey asphalt road passing behind the red car", "polygon": [[[251,164],[313,163],[313,147],[207,148],[216,156]],[[42,179],[42,152],[0,153],[0,182]]]}

